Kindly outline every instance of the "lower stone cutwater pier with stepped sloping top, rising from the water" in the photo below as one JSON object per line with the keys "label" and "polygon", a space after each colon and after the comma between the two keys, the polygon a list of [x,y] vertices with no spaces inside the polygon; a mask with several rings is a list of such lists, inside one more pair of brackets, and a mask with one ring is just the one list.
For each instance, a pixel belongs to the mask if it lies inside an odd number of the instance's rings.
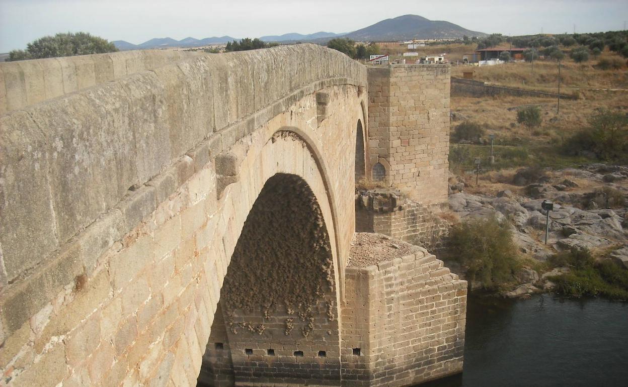
{"label": "lower stone cutwater pier with stepped sloping top, rising from the water", "polygon": [[343,386],[411,386],[462,371],[467,282],[419,248],[347,267]]}

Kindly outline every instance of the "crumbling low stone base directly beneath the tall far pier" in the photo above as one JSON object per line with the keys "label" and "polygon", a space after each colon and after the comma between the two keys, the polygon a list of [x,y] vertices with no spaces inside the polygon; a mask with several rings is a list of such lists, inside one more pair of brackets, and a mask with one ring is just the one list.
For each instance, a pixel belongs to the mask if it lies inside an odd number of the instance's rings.
{"label": "crumbling low stone base directly beneath the tall far pier", "polygon": [[449,226],[430,208],[398,190],[359,191],[355,199],[355,232],[381,233],[413,245],[440,247]]}

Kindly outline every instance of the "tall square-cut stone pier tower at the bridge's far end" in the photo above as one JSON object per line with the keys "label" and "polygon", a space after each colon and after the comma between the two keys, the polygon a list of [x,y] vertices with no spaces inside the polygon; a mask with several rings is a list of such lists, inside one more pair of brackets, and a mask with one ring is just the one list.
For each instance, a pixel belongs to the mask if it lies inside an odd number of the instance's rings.
{"label": "tall square-cut stone pier tower at the bridge's far end", "polygon": [[449,95],[449,65],[369,68],[369,171],[428,206],[447,201]]}

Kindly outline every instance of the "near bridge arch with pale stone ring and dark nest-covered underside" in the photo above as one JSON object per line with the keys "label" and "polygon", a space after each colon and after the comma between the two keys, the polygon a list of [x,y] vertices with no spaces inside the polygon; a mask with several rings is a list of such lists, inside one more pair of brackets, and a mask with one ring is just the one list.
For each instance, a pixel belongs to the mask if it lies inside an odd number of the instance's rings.
{"label": "near bridge arch with pale stone ring and dark nest-covered underside", "polygon": [[[225,189],[225,202],[246,210],[246,221],[230,217],[229,228],[241,233],[233,250],[225,244],[232,255],[199,385],[340,383],[340,263],[313,146],[293,131],[274,132],[261,149],[249,145],[239,181]],[[295,368],[295,358],[310,366]]]}

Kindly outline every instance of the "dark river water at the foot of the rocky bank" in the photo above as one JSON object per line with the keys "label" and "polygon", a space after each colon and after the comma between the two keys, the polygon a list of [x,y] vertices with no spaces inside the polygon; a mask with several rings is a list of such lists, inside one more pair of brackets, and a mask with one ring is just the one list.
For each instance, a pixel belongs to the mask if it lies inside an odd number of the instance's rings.
{"label": "dark river water at the foot of the rocky bank", "polygon": [[628,303],[470,295],[462,374],[421,387],[628,386]]}

